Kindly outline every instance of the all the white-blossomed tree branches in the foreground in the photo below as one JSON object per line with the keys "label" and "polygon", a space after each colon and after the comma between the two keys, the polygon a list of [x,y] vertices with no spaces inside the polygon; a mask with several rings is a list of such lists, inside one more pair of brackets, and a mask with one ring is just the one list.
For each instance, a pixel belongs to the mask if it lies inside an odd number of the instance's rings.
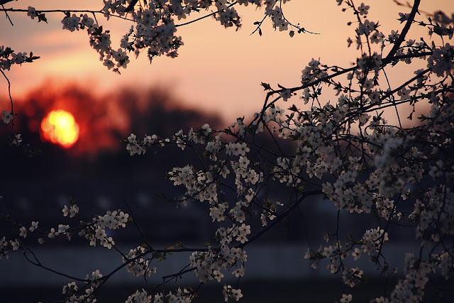
{"label": "all the white-blossomed tree branches in the foreground", "polygon": [[[182,38],[176,35],[177,27],[187,24],[177,25],[177,20],[203,11],[211,10],[206,16],[212,16],[226,28],[238,28],[241,23],[236,6],[265,6],[265,16],[255,23],[260,35],[267,18],[273,28],[289,31],[290,36],[311,33],[287,20],[285,2],[107,0],[99,11],[40,11],[33,7],[7,9],[6,0],[0,1],[0,11],[6,14],[22,11],[38,22],[47,21],[46,13],[64,14],[62,27],[68,31],[87,31],[90,45],[99,53],[102,64],[119,72],[127,67],[131,53],[138,56],[146,50],[150,60],[160,55],[177,56],[183,45]],[[184,243],[157,248],[144,237],[142,246],[128,252],[118,250],[116,270],[102,274],[96,270],[85,278],[72,277],[74,282],[63,287],[67,302],[96,301],[95,290],[121,268],[135,276],[157,275],[157,260],[169,253],[183,252],[191,253],[189,265],[165,277],[159,290],[137,290],[126,302],[191,302],[197,290],[182,286],[165,292],[162,291],[165,284],[181,275],[196,275],[201,283],[222,283],[225,275],[238,278],[247,275],[244,270],[247,247],[314,195],[323,196],[337,207],[338,228],[326,231],[326,246],[306,251],[304,258],[313,268],[323,263],[348,287],[365,282],[362,268],[351,266],[350,261],[366,258],[381,275],[392,275],[384,247],[393,243],[391,230],[412,226],[414,238],[421,245],[419,253],[406,253],[402,267],[397,270],[402,278],[394,289],[383,297],[370,298],[371,301],[420,302],[428,296],[424,289],[431,277],[441,275],[452,281],[454,47],[448,40],[453,38],[454,15],[437,11],[423,19],[419,15],[421,0],[414,0],[405,6],[406,13],[399,14],[402,28],[382,33],[378,22],[367,18],[370,6],[355,4],[353,0],[336,2],[342,11],[351,14],[351,24],[355,25],[353,38],[347,40],[349,46],[356,48],[351,53],[358,53],[358,57],[352,58],[353,66],[324,65],[313,59],[302,70],[297,87],[262,83],[267,94],[262,109],[250,121],[238,118],[219,130],[204,124],[189,131],[177,131],[172,138],[131,134],[124,140],[131,155],[165,148],[196,153],[197,160],[183,167],[172,168],[170,163],[167,177],[175,186],[184,187],[184,196],[173,198],[174,202],[196,200],[206,206],[206,215],[218,224],[213,240],[197,248]],[[97,14],[127,18],[134,23],[119,48],[112,46],[109,31],[96,21]],[[428,37],[409,37],[413,26],[426,28]],[[16,68],[14,65],[38,58],[2,46],[0,71],[7,79],[6,72]],[[413,77],[397,84],[387,82],[391,67],[412,66],[415,62],[423,62],[424,68],[414,70]],[[329,90],[336,92],[335,101],[323,98],[322,93]],[[301,101],[288,104],[287,100],[295,95]],[[11,109],[3,110],[2,119],[13,126],[11,94],[10,99]],[[402,104],[413,109],[408,117],[399,115]],[[424,106],[430,110],[416,114],[416,109]],[[395,125],[384,120],[383,113],[389,109],[397,114]],[[11,143],[20,145],[20,135],[11,129]],[[263,137],[270,138],[272,143],[262,145]],[[284,148],[288,141],[292,143],[291,151],[288,144]],[[279,187],[280,184],[286,186]],[[271,187],[279,188],[278,199],[265,199],[263,192]],[[363,230],[360,236],[343,234],[339,228],[343,223],[339,214],[343,211],[358,216],[374,214],[375,226]],[[63,215],[77,217],[79,223],[70,226],[64,222],[45,230],[38,226],[38,221],[26,224],[6,217],[16,238],[2,238],[0,254],[7,258],[10,253],[23,250],[29,262],[46,268],[28,247],[34,236],[39,243],[62,235],[78,236],[87,238],[90,246],[117,249],[106,230],[135,224],[133,216],[119,209],[82,219],[74,203],[65,206]],[[238,287],[225,285],[223,296],[226,301],[238,301],[243,294]],[[350,302],[354,298],[345,292],[339,294],[339,299]]]}

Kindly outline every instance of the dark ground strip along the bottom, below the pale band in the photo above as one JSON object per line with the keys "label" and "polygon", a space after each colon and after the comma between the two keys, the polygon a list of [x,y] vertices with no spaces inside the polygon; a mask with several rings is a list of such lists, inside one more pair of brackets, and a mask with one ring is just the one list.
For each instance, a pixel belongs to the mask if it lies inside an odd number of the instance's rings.
{"label": "dark ground strip along the bottom, below the pale band", "polygon": [[[387,292],[392,290],[396,280],[388,280]],[[426,287],[424,302],[454,302],[454,285],[444,285],[445,292],[438,292],[433,286],[436,281],[429,281]],[[441,282],[441,281],[438,281]],[[437,283],[443,285],[442,283]],[[353,302],[369,302],[372,297],[380,297],[385,290],[384,279],[370,279],[365,285],[358,288],[343,289],[341,280],[263,280],[244,282],[240,288],[244,297],[240,303],[274,303],[274,302],[335,302],[343,293],[353,294]],[[234,287],[235,285],[233,285]],[[170,287],[172,285],[168,285]],[[177,288],[177,286],[175,286]],[[195,303],[224,302],[222,294],[223,283],[210,283],[199,289],[199,297]],[[100,293],[97,302],[125,302],[128,295],[135,292],[132,286],[105,287]],[[61,288],[0,288],[0,302],[2,303],[31,303],[54,302],[61,300]]]}

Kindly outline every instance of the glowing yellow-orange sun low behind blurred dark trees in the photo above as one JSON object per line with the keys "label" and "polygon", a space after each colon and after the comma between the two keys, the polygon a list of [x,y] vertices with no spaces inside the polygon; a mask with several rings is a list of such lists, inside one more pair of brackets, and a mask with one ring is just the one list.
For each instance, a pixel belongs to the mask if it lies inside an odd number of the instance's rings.
{"label": "glowing yellow-orange sun low behind blurred dark trees", "polygon": [[41,122],[42,137],[46,141],[70,148],[79,138],[79,124],[71,113],[58,109],[50,111]]}

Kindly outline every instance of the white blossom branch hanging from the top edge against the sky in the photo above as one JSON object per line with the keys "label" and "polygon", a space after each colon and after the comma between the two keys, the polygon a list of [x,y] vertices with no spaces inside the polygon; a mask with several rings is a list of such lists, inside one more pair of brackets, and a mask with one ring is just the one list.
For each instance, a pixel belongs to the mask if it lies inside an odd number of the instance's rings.
{"label": "white blossom branch hanging from the top edge against the sky", "polygon": [[[248,6],[252,4],[260,7],[265,6],[265,17],[262,21],[257,21],[258,31],[262,35],[260,26],[265,18],[269,17],[272,21],[272,26],[279,31],[289,31],[293,36],[295,30],[298,33],[305,33],[306,30],[299,25],[290,23],[285,18],[282,11],[282,4],[289,0],[241,0],[241,1],[227,1],[227,0],[214,0],[214,1],[162,1],[162,0],[103,0],[103,7],[99,11],[63,11],[65,17],[62,19],[62,28],[68,31],[87,30],[90,38],[90,45],[100,55],[100,60],[109,70],[119,72],[119,68],[126,68],[129,61],[128,53],[133,52],[135,57],[140,55],[143,50],[146,50],[148,58],[153,58],[161,55],[168,57],[177,57],[178,49],[184,45],[182,38],[177,35],[177,28],[191,23],[180,23],[183,19],[189,16],[194,16],[195,13],[201,11],[210,11],[205,16],[212,16],[216,21],[221,23],[222,26],[229,28],[240,28],[241,21],[236,6]],[[28,9],[3,9],[4,11],[24,11],[27,16],[33,20],[35,18],[40,21],[45,21],[45,13],[61,13],[60,10],[55,11],[40,11],[32,6]],[[86,13],[85,13],[86,12]],[[93,14],[94,18],[88,14]],[[109,18],[122,18],[130,21],[133,25],[123,35],[120,41],[119,48],[112,48],[110,32],[104,31],[103,26],[99,25],[96,21],[96,14],[102,14]],[[180,23],[180,24],[178,24]],[[257,31],[257,30],[256,30]],[[1,52],[0,52],[1,54]],[[26,57],[26,53],[15,54],[13,57],[14,63],[23,62],[23,60],[31,60]],[[17,62],[16,62],[17,61]],[[6,60],[0,61],[0,66],[9,70],[11,62]]]}

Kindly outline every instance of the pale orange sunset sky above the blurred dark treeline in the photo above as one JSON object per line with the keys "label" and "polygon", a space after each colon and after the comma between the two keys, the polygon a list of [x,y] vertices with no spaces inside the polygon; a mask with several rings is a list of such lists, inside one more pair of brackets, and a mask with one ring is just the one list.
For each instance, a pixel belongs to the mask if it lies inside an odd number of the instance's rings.
{"label": "pale orange sunset sky above the blurred dark treeline", "polygon": [[[360,1],[356,1],[357,6]],[[399,11],[409,9],[397,6],[392,0],[366,1],[371,6],[370,20],[380,21],[380,30],[388,34],[391,29],[402,28]],[[26,9],[101,9],[102,1],[13,1],[6,7]],[[302,1],[292,0],[284,6],[284,13],[294,23],[301,23],[309,31],[321,35],[301,34],[289,38],[286,32],[275,32],[266,21],[262,26],[263,35],[250,35],[253,22],[261,20],[262,11],[252,6],[240,7],[243,28],[236,32],[225,29],[212,18],[179,28],[184,45],[179,57],[170,59],[157,57],[150,65],[145,55],[132,58],[126,70],[116,75],[107,70],[97,53],[90,48],[87,33],[63,31],[60,23],[63,14],[46,14],[48,24],[37,23],[25,13],[10,13],[14,26],[6,18],[0,19],[0,45],[9,45],[13,50],[33,51],[41,57],[32,64],[13,67],[7,72],[11,79],[13,97],[19,97],[29,89],[38,86],[45,79],[63,82],[77,81],[92,87],[96,92],[113,92],[118,85],[126,85],[140,91],[143,87],[167,86],[188,106],[218,113],[228,121],[236,116],[258,111],[265,94],[260,82],[272,87],[277,83],[284,87],[299,85],[301,70],[312,57],[321,58],[322,63],[348,67],[359,52],[346,48],[346,39],[354,37],[354,26],[346,23],[353,19],[350,12],[343,13],[334,0]],[[433,12],[438,9],[453,13],[454,1],[423,0],[421,11]],[[423,17],[420,16],[419,20]],[[114,45],[131,26],[129,21],[111,18],[98,21],[111,30]],[[424,30],[423,30],[424,32]],[[421,33],[409,35],[419,39]],[[411,72],[415,70],[412,67]],[[389,77],[399,81],[404,69],[395,69]],[[0,79],[0,90],[6,92],[6,81]],[[1,94],[0,94],[1,96]],[[326,101],[330,96],[326,94]],[[291,99],[298,102],[297,97]],[[6,99],[0,103],[9,109]]]}

